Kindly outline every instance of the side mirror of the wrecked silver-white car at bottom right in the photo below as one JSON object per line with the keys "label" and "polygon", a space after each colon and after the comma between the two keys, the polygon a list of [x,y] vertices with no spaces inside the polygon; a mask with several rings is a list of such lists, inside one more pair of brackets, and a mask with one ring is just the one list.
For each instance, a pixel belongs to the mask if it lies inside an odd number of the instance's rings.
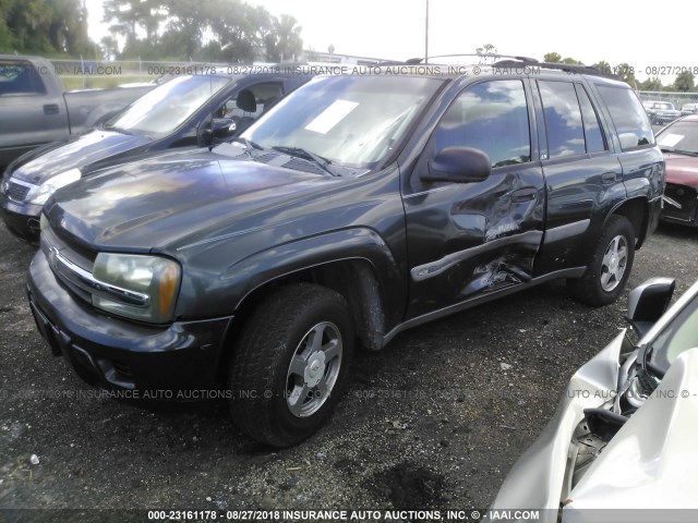
{"label": "side mirror of the wrecked silver-white car at bottom right", "polygon": [[657,320],[666,312],[674,294],[676,280],[673,278],[650,278],[636,287],[628,295],[628,312],[625,319],[642,338]]}

